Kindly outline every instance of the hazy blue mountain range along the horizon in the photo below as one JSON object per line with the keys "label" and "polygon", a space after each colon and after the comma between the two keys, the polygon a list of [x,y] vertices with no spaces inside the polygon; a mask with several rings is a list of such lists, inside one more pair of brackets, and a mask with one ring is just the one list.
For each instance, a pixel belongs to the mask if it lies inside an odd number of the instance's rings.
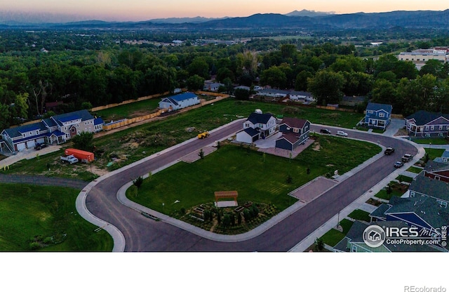
{"label": "hazy blue mountain range along the horizon", "polygon": [[26,23],[1,18],[0,28],[55,29],[171,29],[171,30],[229,30],[229,29],[294,29],[323,31],[335,29],[389,29],[391,27],[447,29],[449,9],[445,11],[391,11],[386,13],[335,14],[316,11],[293,11],[255,14],[238,18],[161,18],[142,22],[106,22],[83,20],[78,22]]}

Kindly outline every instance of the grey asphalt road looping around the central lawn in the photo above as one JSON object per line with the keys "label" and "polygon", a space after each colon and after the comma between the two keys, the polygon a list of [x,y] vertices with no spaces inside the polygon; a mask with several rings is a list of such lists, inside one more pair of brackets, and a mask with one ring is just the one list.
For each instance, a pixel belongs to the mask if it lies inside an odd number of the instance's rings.
{"label": "grey asphalt road looping around the central lawn", "polygon": [[[321,126],[311,127],[313,131],[319,131],[319,128]],[[349,138],[368,140],[385,147],[391,146],[396,149],[396,152],[391,156],[381,157],[373,164],[351,175],[260,236],[240,242],[229,243],[204,239],[168,223],[145,218],[117,201],[116,194],[119,188],[133,178],[170,164],[173,160],[205,147],[210,141],[220,140],[240,129],[241,123],[227,126],[211,133],[206,140],[192,140],[184,143],[173,151],[163,152],[154,159],[102,180],[88,193],[86,198],[88,210],[121,230],[126,241],[125,251],[288,251],[338,211],[393,172],[394,161],[400,159],[402,154],[417,153],[416,148],[405,140],[344,129],[349,133]]]}

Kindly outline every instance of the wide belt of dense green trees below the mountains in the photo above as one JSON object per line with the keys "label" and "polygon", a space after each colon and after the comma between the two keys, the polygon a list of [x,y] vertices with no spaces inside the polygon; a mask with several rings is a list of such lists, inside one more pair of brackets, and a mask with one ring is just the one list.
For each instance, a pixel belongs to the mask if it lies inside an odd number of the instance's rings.
{"label": "wide belt of dense green trees below the mountains", "polygon": [[211,77],[229,92],[259,84],[310,91],[320,105],[363,95],[405,115],[449,111],[447,64],[432,60],[418,71],[394,54],[361,57],[367,48],[354,44],[257,38],[233,45],[194,46],[192,39],[181,46],[133,46],[118,33],[12,36],[2,32],[0,38],[0,128],[45,116],[46,102],[62,101],[58,110],[71,112],[177,87],[194,91]]}

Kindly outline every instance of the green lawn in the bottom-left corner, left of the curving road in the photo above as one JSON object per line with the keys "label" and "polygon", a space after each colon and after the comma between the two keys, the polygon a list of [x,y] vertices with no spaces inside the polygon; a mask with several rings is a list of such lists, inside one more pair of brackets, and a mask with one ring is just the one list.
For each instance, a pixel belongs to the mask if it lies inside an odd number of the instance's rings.
{"label": "green lawn in the bottom-left corner, left of the curving road", "polygon": [[76,212],[79,190],[0,184],[0,251],[112,251],[105,232]]}

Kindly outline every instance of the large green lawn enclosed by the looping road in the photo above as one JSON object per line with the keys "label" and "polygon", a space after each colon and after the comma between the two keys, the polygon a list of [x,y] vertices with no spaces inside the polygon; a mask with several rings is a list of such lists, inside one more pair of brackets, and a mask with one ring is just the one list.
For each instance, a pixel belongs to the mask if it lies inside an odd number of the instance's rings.
{"label": "large green lawn enclosed by the looping road", "polygon": [[[288,192],[335,169],[349,171],[380,150],[367,142],[321,135],[291,160],[270,154],[264,158],[247,147],[223,145],[193,164],[180,162],[152,175],[137,193],[128,190],[127,194],[143,206],[170,215],[213,201],[215,191],[225,190],[239,192],[239,202],[274,204],[282,211],[294,203]],[[286,182],[288,175],[291,183]]]}

